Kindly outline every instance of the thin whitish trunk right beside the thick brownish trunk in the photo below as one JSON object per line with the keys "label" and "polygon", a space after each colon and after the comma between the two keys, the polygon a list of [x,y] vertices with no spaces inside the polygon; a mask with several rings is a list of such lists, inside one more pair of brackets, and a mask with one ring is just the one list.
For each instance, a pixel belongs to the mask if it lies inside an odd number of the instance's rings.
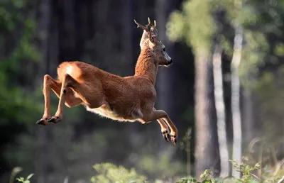
{"label": "thin whitish trunk right beside the thick brownish trunk", "polygon": [[220,177],[227,177],[229,175],[229,152],[226,140],[226,122],[222,77],[222,48],[219,41],[217,42],[218,43],[215,45],[213,54],[214,96],[217,112],[217,133],[221,164]]}

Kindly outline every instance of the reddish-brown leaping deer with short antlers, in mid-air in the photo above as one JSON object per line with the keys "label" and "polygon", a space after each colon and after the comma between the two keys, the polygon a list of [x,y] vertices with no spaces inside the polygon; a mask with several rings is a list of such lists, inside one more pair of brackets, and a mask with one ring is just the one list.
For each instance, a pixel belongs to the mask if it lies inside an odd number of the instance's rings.
{"label": "reddish-brown leaping deer with short antlers, in mid-air", "polygon": [[[87,111],[116,121],[144,124],[157,120],[165,140],[171,138],[173,144],[177,143],[178,129],[165,111],[154,108],[158,67],[168,67],[173,60],[165,52],[165,45],[158,40],[155,21],[153,25],[148,18],[146,26],[134,22],[143,29],[135,75],[120,77],[84,62],[62,62],[58,67],[58,80],[48,74],[44,76],[45,109],[37,124],[45,126],[48,122],[60,122],[64,104],[68,107],[83,105]],[[50,89],[59,98],[55,116],[50,115]]]}

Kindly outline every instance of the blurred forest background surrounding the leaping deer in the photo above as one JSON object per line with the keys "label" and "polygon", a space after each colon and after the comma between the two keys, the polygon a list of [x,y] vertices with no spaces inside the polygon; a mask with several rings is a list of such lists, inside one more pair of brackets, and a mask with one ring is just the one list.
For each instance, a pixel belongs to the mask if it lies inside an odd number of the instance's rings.
{"label": "blurred forest background surrounding the leaping deer", "polygon": [[[146,25],[148,17],[173,58],[158,72],[155,106],[178,127],[178,145],[165,142],[156,122],[117,123],[83,106],[66,109],[56,125],[35,125],[43,76],[56,77],[60,62],[133,75],[142,34],[133,19]],[[206,169],[238,177],[232,159],[278,170],[283,20],[280,0],[1,0],[0,182],[13,167],[39,183],[89,182],[102,162],[164,180]]]}

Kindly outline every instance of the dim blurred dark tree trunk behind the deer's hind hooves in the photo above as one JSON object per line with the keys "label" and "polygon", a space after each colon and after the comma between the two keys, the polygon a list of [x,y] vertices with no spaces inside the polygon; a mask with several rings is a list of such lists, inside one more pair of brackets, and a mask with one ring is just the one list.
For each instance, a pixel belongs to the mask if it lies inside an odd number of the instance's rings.
{"label": "dim blurred dark tree trunk behind the deer's hind hooves", "polygon": [[[40,39],[41,39],[41,53],[44,63],[43,71],[48,74],[50,62],[48,58],[48,45],[49,45],[49,28],[50,28],[50,0],[42,0],[40,4]],[[43,75],[39,78],[42,79]],[[36,131],[36,153],[35,153],[35,174],[38,183],[48,182],[48,136],[50,135],[49,128],[37,127]]]}

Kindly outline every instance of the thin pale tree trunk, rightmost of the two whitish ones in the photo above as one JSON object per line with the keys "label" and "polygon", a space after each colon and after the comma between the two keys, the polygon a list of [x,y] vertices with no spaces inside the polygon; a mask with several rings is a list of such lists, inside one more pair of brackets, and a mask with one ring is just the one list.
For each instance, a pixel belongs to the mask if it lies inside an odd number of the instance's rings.
{"label": "thin pale tree trunk, rightmost of the two whitish ones", "polygon": [[[240,82],[239,82],[239,63],[241,62],[241,50],[243,42],[243,29],[236,27],[234,38],[234,53],[231,61],[231,115],[233,121],[233,155],[232,159],[241,162],[241,111],[240,111]],[[232,170],[234,177],[240,177],[240,172]]]}

